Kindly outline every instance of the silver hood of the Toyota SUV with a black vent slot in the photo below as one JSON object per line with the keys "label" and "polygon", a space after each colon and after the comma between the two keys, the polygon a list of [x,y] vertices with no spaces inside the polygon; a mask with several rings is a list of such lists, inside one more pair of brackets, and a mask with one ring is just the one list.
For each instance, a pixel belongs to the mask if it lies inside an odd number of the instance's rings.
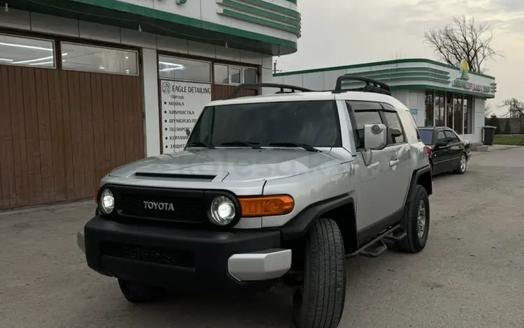
{"label": "silver hood of the Toyota SUV with a black vent slot", "polygon": [[129,163],[110,177],[199,179],[212,182],[279,179],[340,163],[329,153],[303,149],[193,149]]}

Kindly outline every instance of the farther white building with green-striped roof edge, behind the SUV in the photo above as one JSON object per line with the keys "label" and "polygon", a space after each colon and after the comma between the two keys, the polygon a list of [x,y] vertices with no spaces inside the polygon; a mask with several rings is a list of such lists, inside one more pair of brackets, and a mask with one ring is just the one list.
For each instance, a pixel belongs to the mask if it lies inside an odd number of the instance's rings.
{"label": "farther white building with green-striped roof edge, behind the SUV", "polygon": [[[335,89],[337,77],[371,77],[411,111],[419,126],[448,126],[471,142],[481,142],[484,104],[497,91],[495,77],[469,72],[430,59],[398,59],[367,64],[301,70],[273,75],[273,82],[316,90]],[[360,82],[342,84],[349,89]]]}

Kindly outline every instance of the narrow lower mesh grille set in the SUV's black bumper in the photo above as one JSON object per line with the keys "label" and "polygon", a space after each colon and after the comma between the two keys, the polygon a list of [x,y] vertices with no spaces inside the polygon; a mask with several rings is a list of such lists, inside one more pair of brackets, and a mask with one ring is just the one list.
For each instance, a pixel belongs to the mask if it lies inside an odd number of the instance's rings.
{"label": "narrow lower mesh grille set in the SUV's black bumper", "polygon": [[176,267],[194,267],[194,256],[191,252],[175,251],[166,248],[103,243],[101,244],[101,255],[108,255],[126,260],[173,265]]}

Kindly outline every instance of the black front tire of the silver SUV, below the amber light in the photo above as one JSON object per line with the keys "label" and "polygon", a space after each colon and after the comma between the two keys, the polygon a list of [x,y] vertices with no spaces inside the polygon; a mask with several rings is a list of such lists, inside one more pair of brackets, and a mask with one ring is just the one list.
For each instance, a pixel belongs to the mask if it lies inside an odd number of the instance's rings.
{"label": "black front tire of the silver SUV, below the amber light", "polygon": [[293,295],[298,328],[335,328],[346,298],[344,241],[335,221],[319,218],[305,240],[303,284]]}

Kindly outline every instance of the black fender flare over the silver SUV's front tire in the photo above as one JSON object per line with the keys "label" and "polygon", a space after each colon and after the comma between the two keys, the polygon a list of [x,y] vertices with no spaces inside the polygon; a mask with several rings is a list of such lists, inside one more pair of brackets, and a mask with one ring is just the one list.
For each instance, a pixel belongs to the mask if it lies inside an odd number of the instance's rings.
{"label": "black fender flare over the silver SUV's front tire", "polygon": [[[280,228],[282,241],[291,241],[304,237],[307,231],[310,229],[312,223],[317,218],[320,218],[328,211],[347,204],[353,205],[353,209],[355,210],[355,200],[352,195],[344,194],[311,204],[310,206],[303,209],[303,211],[300,211],[300,213],[291,219],[291,221],[286,223],[286,225]],[[354,213],[353,218],[355,217],[356,216]],[[356,225],[356,223],[354,224]]]}

